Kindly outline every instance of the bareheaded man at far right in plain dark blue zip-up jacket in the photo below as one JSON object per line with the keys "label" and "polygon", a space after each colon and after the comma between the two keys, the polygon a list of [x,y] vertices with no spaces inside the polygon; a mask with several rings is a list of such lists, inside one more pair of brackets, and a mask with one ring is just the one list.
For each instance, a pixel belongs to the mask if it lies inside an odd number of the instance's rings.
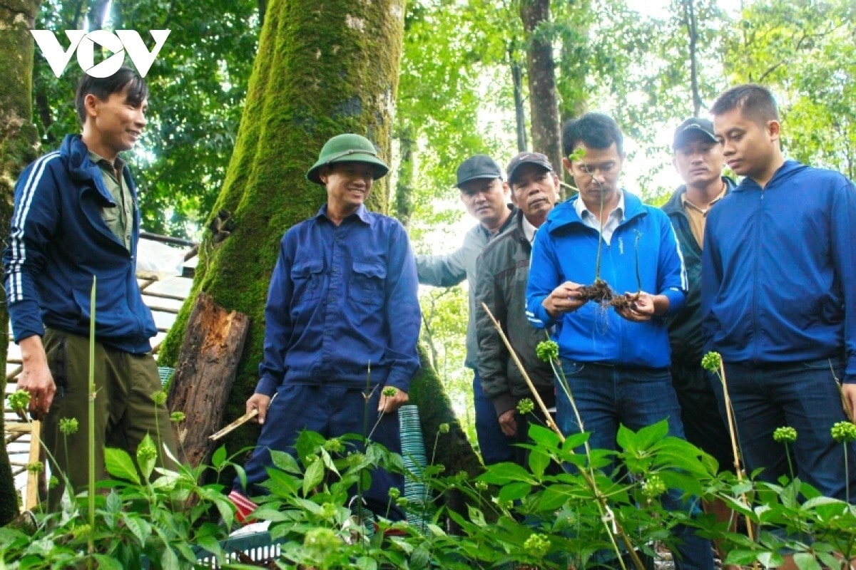
{"label": "bareheaded man at far right in plain dark blue zip-up jacket", "polygon": [[763,467],[770,482],[790,476],[773,432],[791,426],[794,475],[844,499],[856,466],[844,472],[830,428],[856,403],[856,190],[785,160],[764,87],[723,92],[711,114],[728,166],[745,178],[708,216],[702,326],[705,349],[722,355],[746,468]]}

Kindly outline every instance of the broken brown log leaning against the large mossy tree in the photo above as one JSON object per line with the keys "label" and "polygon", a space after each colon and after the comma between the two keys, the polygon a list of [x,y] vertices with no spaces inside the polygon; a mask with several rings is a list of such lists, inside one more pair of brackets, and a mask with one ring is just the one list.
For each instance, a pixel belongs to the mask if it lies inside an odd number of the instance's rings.
{"label": "broken brown log leaning against the large mossy tree", "polygon": [[249,325],[246,314],[218,307],[205,293],[193,303],[167,399],[170,412],[185,414],[173,431],[193,467],[213,449],[208,437],[223,421]]}

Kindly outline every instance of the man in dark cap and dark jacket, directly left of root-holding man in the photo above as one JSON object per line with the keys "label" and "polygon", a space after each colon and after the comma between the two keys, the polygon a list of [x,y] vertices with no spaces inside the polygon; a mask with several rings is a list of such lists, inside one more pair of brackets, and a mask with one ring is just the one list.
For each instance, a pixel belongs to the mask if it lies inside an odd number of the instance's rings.
{"label": "man in dark cap and dark jacket, directly left of root-holding man", "polygon": [[[514,364],[499,332],[482,307],[484,303],[508,338],[514,352],[548,408],[556,405],[553,370],[535,354],[535,347],[545,339],[544,331],[526,319],[526,280],[532,240],[538,227],[559,197],[559,178],[546,156],[538,152],[521,152],[506,169],[511,201],[517,212],[511,216],[508,232],[492,240],[479,256],[476,279],[476,332],[479,339],[479,378],[484,395],[496,410],[499,426],[514,443],[526,442],[529,419],[518,414],[517,404],[531,398],[532,391],[520,369]],[[536,407],[533,414],[541,417]],[[542,423],[544,418],[541,417]],[[514,448],[514,461],[526,465],[526,450]]]}

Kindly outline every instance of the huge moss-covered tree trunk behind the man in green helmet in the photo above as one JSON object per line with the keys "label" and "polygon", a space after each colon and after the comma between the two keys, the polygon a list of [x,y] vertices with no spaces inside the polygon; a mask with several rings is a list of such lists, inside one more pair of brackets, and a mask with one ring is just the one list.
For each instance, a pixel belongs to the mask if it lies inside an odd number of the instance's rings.
{"label": "huge moss-covered tree trunk behind the man in green helmet", "polygon": [[[326,199],[324,188],[305,178],[318,150],[336,134],[357,132],[389,162],[403,19],[404,0],[270,0],[267,5],[235,152],[211,215],[209,227],[219,241],[206,236],[193,295],[161,352],[162,363],[176,361],[199,291],[224,309],[247,314],[251,325],[227,418],[244,413],[258,380],[265,299],[282,233],[315,214]],[[388,211],[388,179],[374,186],[368,205]],[[439,423],[454,420],[437,374],[424,369],[412,392],[431,430],[426,439],[432,439]],[[473,471],[478,462],[460,437],[460,426],[455,424],[450,436],[455,427],[458,445],[441,446],[438,461]],[[253,446],[258,437],[250,428],[233,433],[226,441],[231,451]]]}

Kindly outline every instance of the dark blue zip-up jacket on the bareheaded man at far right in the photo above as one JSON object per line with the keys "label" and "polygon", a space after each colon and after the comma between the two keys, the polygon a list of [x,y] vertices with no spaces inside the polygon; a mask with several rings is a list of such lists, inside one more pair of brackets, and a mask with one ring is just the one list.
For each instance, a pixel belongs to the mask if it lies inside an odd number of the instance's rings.
{"label": "dark blue zip-up jacket on the bareheaded man at far right", "polygon": [[787,161],[710,210],[702,256],[705,350],[729,362],[844,358],[856,382],[856,189]]}

